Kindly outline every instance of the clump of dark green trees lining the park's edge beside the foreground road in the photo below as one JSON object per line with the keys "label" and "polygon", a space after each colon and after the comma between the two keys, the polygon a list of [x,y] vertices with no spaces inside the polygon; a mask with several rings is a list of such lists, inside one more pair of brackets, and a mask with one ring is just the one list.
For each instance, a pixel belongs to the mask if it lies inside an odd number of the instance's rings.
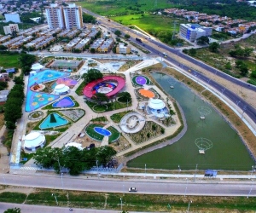
{"label": "clump of dark green trees lining the park's edge beside the foreground road", "polygon": [[34,154],[35,163],[46,169],[53,168],[57,173],[61,168],[69,170],[70,175],[77,176],[91,167],[107,166],[116,154],[113,147],[94,147],[90,150],[79,150],[77,147],[45,147],[39,148]]}

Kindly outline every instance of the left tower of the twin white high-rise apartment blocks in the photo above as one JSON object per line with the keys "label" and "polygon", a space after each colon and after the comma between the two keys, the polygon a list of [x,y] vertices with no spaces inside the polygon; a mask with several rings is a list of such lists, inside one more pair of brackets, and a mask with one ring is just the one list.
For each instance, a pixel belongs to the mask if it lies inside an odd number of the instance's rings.
{"label": "left tower of the twin white high-rise apartment blocks", "polygon": [[49,28],[65,28],[62,7],[59,7],[57,3],[51,3],[49,7],[46,7],[45,14]]}

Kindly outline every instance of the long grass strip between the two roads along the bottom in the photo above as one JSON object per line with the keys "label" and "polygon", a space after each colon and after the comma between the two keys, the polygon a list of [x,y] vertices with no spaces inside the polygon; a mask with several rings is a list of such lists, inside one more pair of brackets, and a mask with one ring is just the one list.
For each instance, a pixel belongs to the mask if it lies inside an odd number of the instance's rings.
{"label": "long grass strip between the two roads along the bottom", "polygon": [[[29,189],[29,188],[27,188]],[[8,190],[8,187],[7,187]],[[10,188],[11,190],[11,188]],[[126,189],[127,190],[127,189]],[[139,190],[139,188],[138,188]],[[151,195],[139,193],[97,193],[79,192],[54,189],[34,189],[32,193],[0,193],[0,201],[21,204],[43,204],[55,206],[54,193],[59,206],[75,208],[90,208],[98,210],[120,210],[120,198],[122,209],[125,211],[143,212],[253,212],[256,198],[250,197],[209,197],[209,196],[178,196],[178,195]],[[67,199],[68,193],[68,199]],[[15,205],[14,205],[15,206]],[[170,209],[172,208],[172,210]]]}

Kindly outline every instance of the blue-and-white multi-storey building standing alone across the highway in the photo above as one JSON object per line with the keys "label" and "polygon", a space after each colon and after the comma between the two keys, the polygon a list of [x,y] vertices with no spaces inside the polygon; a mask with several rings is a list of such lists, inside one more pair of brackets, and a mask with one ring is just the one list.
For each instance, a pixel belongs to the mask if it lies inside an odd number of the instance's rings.
{"label": "blue-and-white multi-storey building standing alone across the highway", "polygon": [[200,26],[197,24],[181,24],[179,33],[182,37],[189,40],[190,42],[195,42],[195,40],[199,37],[211,36],[212,27]]}

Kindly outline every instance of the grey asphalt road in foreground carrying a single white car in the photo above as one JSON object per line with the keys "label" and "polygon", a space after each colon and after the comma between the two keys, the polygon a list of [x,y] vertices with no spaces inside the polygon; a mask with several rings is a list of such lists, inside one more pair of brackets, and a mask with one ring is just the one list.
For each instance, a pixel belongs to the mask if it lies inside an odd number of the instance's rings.
{"label": "grey asphalt road in foreground carrying a single white car", "polygon": [[134,180],[120,181],[108,178],[91,179],[85,176],[20,176],[3,174],[0,184],[20,187],[47,187],[55,189],[128,193],[129,187],[137,187],[137,193],[207,195],[207,196],[256,196],[254,181],[252,182],[203,182],[183,179],[183,181]]}

